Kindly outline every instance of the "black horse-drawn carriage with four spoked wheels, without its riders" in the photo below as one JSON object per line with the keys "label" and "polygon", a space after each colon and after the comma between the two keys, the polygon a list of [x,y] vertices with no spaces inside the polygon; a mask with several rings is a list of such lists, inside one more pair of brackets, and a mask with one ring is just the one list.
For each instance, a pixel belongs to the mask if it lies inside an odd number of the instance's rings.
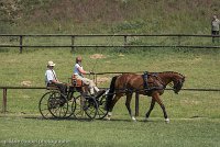
{"label": "black horse-drawn carriage with four spoked wheels, without its riders", "polygon": [[107,115],[107,93],[99,98],[87,92],[81,80],[74,76],[67,84],[67,94],[64,95],[56,87],[47,87],[38,102],[38,110],[44,118],[68,118],[77,120],[103,118]]}

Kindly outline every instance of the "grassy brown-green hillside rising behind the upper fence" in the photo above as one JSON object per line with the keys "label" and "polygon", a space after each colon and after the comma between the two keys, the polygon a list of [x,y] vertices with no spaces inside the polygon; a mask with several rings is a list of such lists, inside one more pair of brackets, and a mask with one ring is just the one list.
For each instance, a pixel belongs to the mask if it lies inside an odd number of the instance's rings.
{"label": "grassy brown-green hillside rising behind the upper fence", "polygon": [[12,26],[13,33],[210,34],[211,15],[219,13],[220,2],[21,0],[15,5],[19,13],[12,16],[19,20]]}

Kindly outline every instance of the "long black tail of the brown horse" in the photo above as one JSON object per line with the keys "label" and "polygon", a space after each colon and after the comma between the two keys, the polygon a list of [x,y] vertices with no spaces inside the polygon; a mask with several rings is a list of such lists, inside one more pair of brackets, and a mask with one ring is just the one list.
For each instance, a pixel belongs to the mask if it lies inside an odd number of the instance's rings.
{"label": "long black tail of the brown horse", "polygon": [[107,94],[107,103],[106,103],[106,110],[107,111],[110,111],[110,105],[111,105],[111,102],[112,102],[113,95],[114,95],[113,92],[116,90],[114,83],[116,83],[117,78],[118,78],[118,76],[114,76],[111,79],[111,84],[110,84],[109,93]]}

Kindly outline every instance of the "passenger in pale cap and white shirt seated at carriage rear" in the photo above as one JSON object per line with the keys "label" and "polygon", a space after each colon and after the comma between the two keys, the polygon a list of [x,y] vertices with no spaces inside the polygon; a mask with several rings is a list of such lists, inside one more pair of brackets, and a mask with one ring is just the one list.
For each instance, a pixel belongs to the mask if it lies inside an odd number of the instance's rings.
{"label": "passenger in pale cap and white shirt seated at carriage rear", "polygon": [[58,81],[57,77],[56,77],[56,72],[54,70],[54,66],[55,64],[50,60],[47,63],[47,70],[45,72],[45,82],[46,82],[46,87],[57,87],[59,89],[59,91],[66,95],[66,90],[67,90],[67,86],[61,81]]}

